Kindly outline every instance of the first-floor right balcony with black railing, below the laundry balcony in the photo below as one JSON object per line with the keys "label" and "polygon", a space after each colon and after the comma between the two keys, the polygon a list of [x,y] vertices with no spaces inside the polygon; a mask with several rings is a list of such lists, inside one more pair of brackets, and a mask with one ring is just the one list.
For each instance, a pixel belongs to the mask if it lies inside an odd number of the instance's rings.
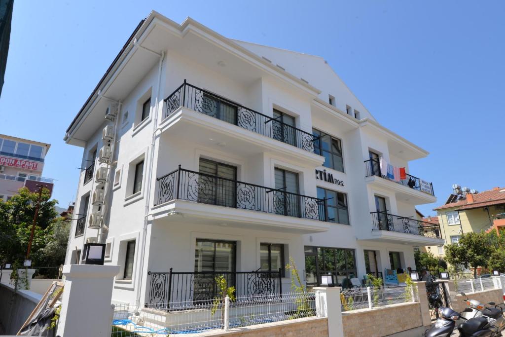
{"label": "first-floor right balcony with black railing, below the laundry balcony", "polygon": [[438,224],[386,212],[370,212],[370,214],[372,216],[373,238],[384,241],[401,240],[416,244],[443,244]]}

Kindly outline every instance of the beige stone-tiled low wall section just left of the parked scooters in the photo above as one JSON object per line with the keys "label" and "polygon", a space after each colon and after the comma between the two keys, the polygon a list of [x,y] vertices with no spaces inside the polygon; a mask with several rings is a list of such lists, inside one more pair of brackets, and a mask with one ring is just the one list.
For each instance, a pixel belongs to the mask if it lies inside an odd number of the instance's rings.
{"label": "beige stone-tiled low wall section just left of the parked scooters", "polygon": [[387,336],[423,325],[421,304],[402,303],[342,313],[345,337]]}

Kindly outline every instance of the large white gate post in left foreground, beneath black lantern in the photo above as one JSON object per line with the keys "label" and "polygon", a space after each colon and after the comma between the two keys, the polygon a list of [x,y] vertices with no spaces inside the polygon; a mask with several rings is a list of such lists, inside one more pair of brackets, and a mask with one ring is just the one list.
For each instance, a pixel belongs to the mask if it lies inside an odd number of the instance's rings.
{"label": "large white gate post in left foreground, beneath black lantern", "polygon": [[65,285],[57,336],[111,336],[112,288],[118,273],[119,266],[63,266]]}

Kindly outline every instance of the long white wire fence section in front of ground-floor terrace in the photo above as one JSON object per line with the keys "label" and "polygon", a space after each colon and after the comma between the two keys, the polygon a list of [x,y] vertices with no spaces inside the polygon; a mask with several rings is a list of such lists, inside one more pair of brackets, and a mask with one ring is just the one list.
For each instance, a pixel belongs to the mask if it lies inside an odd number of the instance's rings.
{"label": "long white wire fence section in front of ground-floor terrace", "polygon": [[114,306],[112,337],[190,334],[316,316],[315,293],[170,303],[135,310]]}

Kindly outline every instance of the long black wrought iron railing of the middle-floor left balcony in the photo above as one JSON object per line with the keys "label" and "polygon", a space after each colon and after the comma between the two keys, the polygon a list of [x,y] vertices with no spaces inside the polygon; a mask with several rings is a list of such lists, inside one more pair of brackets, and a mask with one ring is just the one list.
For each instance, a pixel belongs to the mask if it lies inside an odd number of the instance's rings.
{"label": "long black wrought iron railing of the middle-floor left balcony", "polygon": [[180,167],[157,179],[156,204],[187,200],[202,204],[326,221],[325,201]]}

